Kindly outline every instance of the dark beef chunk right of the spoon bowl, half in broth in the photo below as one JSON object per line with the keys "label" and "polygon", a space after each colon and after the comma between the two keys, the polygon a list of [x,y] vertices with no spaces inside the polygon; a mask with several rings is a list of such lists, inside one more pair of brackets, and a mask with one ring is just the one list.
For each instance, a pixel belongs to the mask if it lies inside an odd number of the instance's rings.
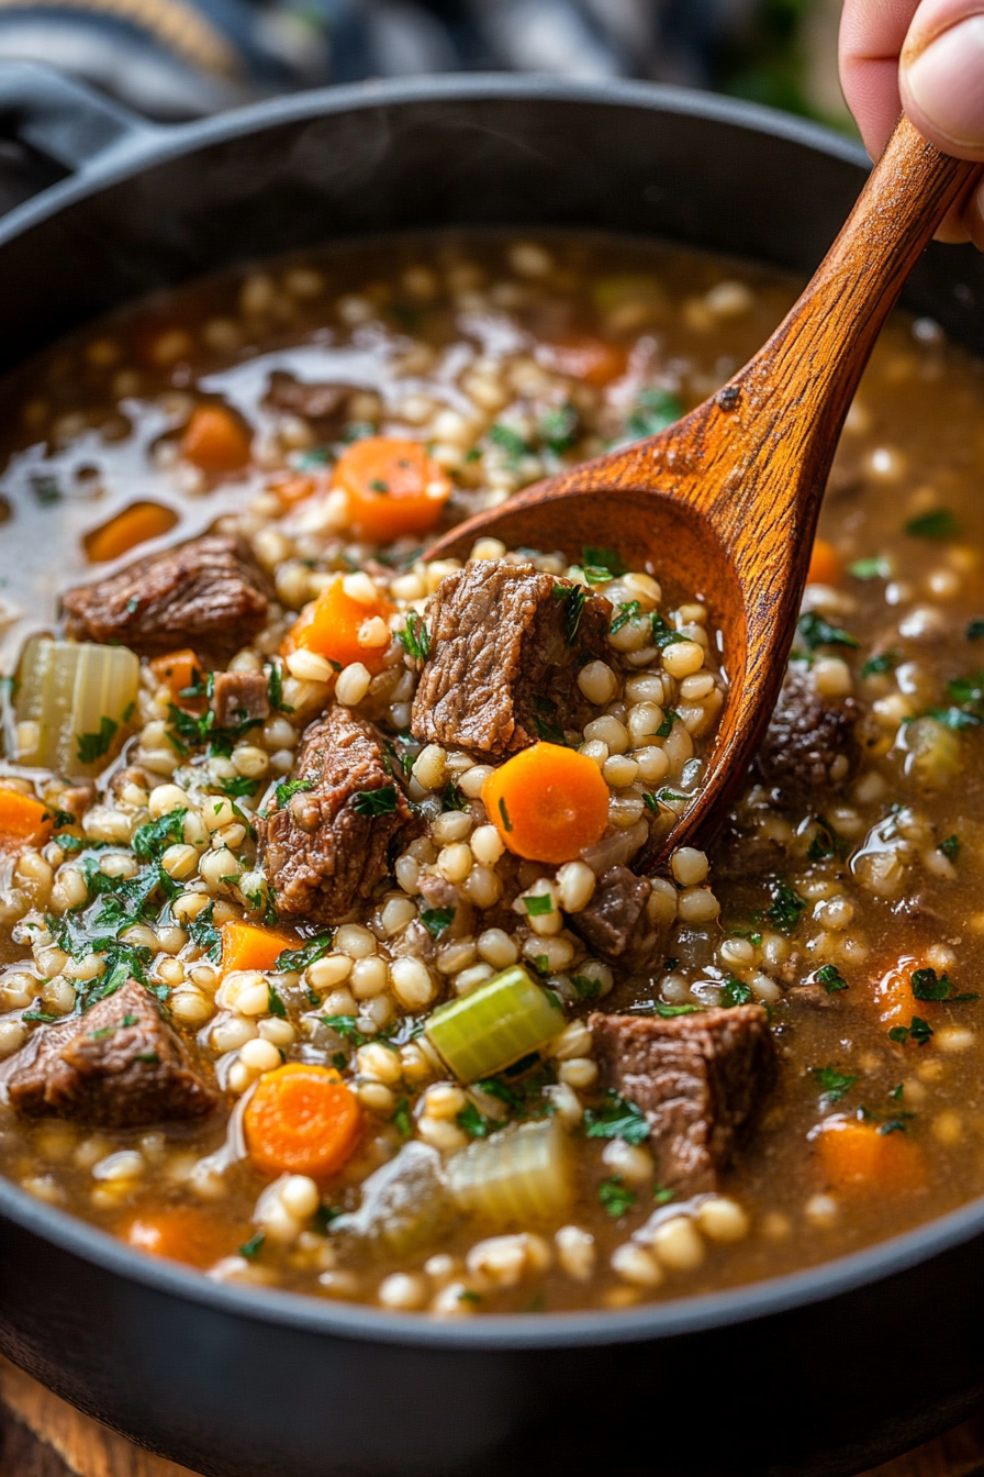
{"label": "dark beef chunk right of the spoon bowl, half in broth", "polygon": [[789,668],[755,758],[758,774],[789,796],[841,784],[860,761],[857,718],[853,697],[822,697],[807,672]]}

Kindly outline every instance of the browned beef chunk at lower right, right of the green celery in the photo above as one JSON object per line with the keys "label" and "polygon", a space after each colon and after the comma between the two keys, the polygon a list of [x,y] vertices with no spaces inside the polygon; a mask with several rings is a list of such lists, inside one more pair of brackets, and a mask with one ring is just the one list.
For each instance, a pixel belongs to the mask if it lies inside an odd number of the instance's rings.
{"label": "browned beef chunk at lower right, right of the green celery", "polygon": [[605,1081],[646,1115],[659,1183],[687,1193],[713,1189],[775,1081],[763,1006],[670,1021],[592,1015],[589,1025]]}

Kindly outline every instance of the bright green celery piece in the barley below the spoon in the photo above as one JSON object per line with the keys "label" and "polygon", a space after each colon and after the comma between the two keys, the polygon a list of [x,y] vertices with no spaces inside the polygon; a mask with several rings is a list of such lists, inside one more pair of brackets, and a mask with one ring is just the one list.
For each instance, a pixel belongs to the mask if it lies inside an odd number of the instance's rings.
{"label": "bright green celery piece in the barley below the spoon", "polygon": [[441,1006],[426,1024],[431,1046],[462,1083],[493,1077],[562,1029],[561,1006],[519,964]]}

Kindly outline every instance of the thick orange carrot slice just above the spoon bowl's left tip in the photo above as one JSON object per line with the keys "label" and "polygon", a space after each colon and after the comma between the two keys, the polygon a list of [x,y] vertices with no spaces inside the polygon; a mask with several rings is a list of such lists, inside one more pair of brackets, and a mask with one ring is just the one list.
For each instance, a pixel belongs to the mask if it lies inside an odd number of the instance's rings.
{"label": "thick orange carrot slice just above the spoon bowl's left tip", "polygon": [[366,436],[335,462],[332,486],[348,495],[351,526],[381,544],[429,533],[441,521],[451,483],[422,442]]}

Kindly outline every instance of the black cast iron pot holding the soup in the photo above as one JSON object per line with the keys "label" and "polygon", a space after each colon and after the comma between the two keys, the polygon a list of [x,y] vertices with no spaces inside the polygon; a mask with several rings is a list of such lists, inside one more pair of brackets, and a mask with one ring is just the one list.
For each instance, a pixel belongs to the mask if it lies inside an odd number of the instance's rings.
{"label": "black cast iron pot holding the soup", "polygon": [[[611,229],[808,272],[866,167],[795,120],[630,83],[366,84],[165,130],[10,66],[4,120],[24,179],[62,177],[0,222],[0,369],[150,288],[409,227]],[[969,248],[932,247],[907,304],[984,349]],[[0,1182],[0,1349],[215,1477],[856,1473],[984,1394],[984,1202],[720,1295],[435,1323],[220,1286]]]}

